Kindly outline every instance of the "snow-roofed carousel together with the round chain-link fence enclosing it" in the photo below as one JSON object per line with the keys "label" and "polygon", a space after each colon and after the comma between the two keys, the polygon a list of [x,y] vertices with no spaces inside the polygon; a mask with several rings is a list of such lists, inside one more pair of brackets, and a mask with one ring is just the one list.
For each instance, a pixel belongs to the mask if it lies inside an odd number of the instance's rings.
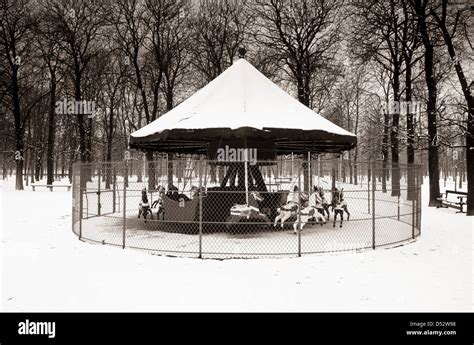
{"label": "snow-roofed carousel together with the round chain-link fence enclosing it", "polygon": [[390,167],[344,159],[356,136],[244,58],[129,143],[130,159],[74,165],[79,239],[248,258],[386,248],[421,234],[418,166],[399,164],[392,195]]}

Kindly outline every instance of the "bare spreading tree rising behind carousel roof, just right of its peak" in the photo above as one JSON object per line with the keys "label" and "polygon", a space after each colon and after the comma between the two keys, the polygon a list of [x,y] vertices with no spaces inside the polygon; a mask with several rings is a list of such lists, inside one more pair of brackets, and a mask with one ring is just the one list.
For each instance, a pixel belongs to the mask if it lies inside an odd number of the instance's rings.
{"label": "bare spreading tree rising behind carousel roof, just right of its peak", "polygon": [[257,41],[266,45],[294,83],[298,100],[310,105],[311,82],[331,64],[340,43],[338,1],[257,1]]}

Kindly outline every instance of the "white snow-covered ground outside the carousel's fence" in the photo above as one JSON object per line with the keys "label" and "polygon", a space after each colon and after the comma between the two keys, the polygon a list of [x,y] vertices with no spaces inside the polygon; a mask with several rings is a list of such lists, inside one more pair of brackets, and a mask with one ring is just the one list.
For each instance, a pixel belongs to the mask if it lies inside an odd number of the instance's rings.
{"label": "white snow-covered ground outside the carousel's fence", "polygon": [[83,243],[71,192],[13,183],[0,185],[1,311],[473,310],[473,219],[453,209],[423,207],[421,237],[396,248],[199,260]]}

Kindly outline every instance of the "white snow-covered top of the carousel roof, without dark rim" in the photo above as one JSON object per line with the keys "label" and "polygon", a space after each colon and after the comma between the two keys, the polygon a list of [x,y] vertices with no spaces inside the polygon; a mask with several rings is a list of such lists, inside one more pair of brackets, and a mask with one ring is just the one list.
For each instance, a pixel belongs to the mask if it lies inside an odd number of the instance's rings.
{"label": "white snow-covered top of the carousel roof, without dark rim", "polygon": [[355,138],[280,89],[245,59],[239,59],[187,100],[132,133],[131,141],[170,130],[243,127],[317,130]]}

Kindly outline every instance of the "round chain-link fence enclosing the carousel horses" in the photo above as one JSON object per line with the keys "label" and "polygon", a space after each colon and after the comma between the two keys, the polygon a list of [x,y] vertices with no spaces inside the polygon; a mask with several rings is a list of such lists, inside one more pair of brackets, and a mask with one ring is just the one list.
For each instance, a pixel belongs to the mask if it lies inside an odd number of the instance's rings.
{"label": "round chain-link fence enclosing the carousel horses", "polygon": [[342,159],[78,163],[82,240],[200,258],[360,250],[420,235],[418,166]]}

